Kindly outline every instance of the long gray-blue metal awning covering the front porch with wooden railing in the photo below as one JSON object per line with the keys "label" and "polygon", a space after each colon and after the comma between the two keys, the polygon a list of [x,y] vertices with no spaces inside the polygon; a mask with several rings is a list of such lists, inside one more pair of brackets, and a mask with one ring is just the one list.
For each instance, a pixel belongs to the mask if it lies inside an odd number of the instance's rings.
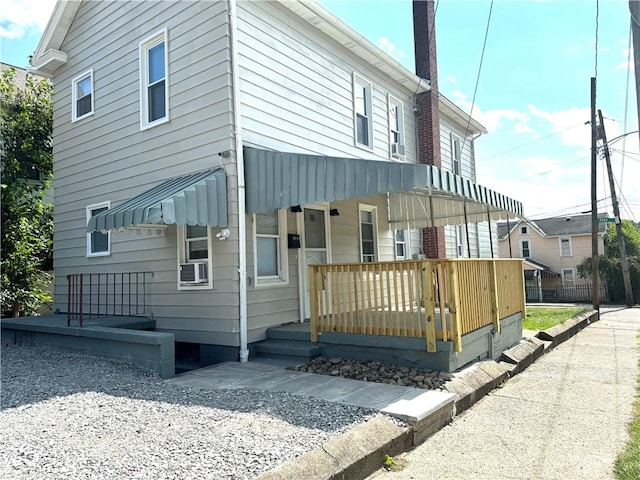
{"label": "long gray-blue metal awning covering the front porch with wooden railing", "polygon": [[522,203],[432,165],[245,147],[247,213],[388,194],[390,228],[522,216]]}

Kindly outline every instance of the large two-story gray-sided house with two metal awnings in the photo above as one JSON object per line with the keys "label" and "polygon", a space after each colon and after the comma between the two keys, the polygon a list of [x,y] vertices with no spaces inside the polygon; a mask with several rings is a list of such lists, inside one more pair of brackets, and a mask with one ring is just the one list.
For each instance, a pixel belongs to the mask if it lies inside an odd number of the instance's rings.
{"label": "large two-story gray-sided house with two metal awnings", "polygon": [[465,223],[487,256],[475,224],[522,214],[474,183],[471,140],[462,176],[417,165],[428,84],[314,2],[60,1],[33,66],[55,86],[55,308],[69,274],[151,272],[157,330],[216,359],[308,318],[308,263]]}

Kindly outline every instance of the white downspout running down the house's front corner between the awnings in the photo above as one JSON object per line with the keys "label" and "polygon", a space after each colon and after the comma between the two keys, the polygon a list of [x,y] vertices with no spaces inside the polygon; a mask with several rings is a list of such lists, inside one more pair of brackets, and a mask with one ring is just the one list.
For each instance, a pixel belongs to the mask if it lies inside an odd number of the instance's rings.
{"label": "white downspout running down the house's front corner between the awnings", "polygon": [[247,225],[244,182],[244,152],[242,150],[242,125],[240,124],[240,73],[238,71],[238,25],[236,0],[229,0],[229,37],[231,40],[231,97],[233,126],[238,174],[238,275],[240,279],[240,362],[249,361],[247,348]]}

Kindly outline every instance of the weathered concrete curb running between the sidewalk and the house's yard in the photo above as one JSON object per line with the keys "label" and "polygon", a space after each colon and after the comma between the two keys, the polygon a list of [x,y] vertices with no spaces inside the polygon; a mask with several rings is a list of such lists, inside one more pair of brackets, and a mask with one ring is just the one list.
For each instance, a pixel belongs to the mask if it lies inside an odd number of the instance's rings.
{"label": "weathered concrete curb running between the sidewalk and the house's yard", "polygon": [[[430,392],[411,403],[429,402],[431,407],[415,416],[397,415],[409,427],[400,427],[383,415],[377,415],[311,452],[289,460],[258,477],[258,480],[355,480],[379,470],[385,455],[394,456],[416,447],[451,422],[455,415],[472,407],[482,397],[510,377],[525,370],[549,349],[568,340],[590,323],[597,321],[592,310],[561,325],[539,332],[505,350],[499,361],[487,360],[452,375],[445,389],[451,395]],[[401,409],[406,411],[405,408]],[[411,409],[409,409],[411,410]],[[394,405],[383,413],[396,415]]]}

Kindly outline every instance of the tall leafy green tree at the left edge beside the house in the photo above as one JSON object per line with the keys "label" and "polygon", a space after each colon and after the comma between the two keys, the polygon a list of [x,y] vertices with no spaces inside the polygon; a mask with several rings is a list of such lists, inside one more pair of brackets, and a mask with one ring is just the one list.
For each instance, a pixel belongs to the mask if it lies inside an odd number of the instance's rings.
{"label": "tall leafy green tree at the left edge beside the house", "polygon": [[53,207],[45,203],[53,168],[53,88],[13,69],[0,77],[2,232],[0,301],[3,315],[33,315],[46,291],[53,246]]}

